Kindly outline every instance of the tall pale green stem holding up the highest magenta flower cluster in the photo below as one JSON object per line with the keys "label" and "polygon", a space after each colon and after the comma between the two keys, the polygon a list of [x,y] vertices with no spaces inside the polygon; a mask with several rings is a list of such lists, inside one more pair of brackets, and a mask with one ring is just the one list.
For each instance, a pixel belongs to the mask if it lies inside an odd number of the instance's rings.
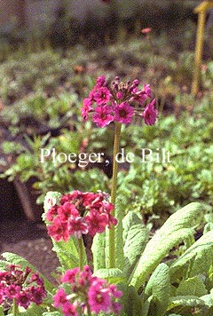
{"label": "tall pale green stem holding up the highest magenta flower cluster", "polygon": [[[112,189],[111,189],[111,203],[114,204],[114,211],[112,213],[113,216],[114,216],[114,212],[115,212],[116,190],[117,190],[117,173],[118,173],[118,162],[116,161],[115,157],[116,157],[116,154],[118,154],[118,152],[119,152],[122,124],[118,123],[118,122],[114,122],[114,128],[115,129],[114,129],[113,179],[112,179]],[[109,268],[115,267],[114,237],[115,237],[115,230],[114,230],[114,226],[112,226],[109,229],[109,234],[108,234]]]}

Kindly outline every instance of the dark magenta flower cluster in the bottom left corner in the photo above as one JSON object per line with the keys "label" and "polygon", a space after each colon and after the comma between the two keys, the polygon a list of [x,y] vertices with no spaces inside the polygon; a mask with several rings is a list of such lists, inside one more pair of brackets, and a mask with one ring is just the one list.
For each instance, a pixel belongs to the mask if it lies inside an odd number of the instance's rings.
{"label": "dark magenta flower cluster in the bottom left corner", "polygon": [[16,304],[28,308],[29,304],[42,304],[46,291],[43,279],[38,273],[32,273],[30,268],[24,271],[19,265],[8,265],[4,272],[0,272],[0,304]]}

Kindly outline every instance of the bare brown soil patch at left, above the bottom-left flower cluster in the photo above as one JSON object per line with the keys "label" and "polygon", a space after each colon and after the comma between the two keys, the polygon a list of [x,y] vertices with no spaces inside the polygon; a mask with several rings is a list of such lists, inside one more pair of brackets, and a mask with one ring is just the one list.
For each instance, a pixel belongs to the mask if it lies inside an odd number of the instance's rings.
{"label": "bare brown soil patch at left, above the bottom-left flower cluster", "polygon": [[26,258],[53,281],[51,273],[55,272],[59,262],[51,248],[51,239],[42,223],[30,222],[21,213],[13,218],[1,218],[0,253],[8,251]]}

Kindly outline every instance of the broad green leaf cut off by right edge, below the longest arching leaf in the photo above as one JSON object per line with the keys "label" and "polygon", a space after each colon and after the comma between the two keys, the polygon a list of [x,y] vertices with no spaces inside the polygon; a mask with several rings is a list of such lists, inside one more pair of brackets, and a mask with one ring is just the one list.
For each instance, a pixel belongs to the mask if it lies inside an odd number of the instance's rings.
{"label": "broad green leaf cut off by right edge, below the longest arching leaf", "polygon": [[170,265],[170,276],[175,280],[178,273],[188,267],[188,276],[193,277],[200,273],[207,273],[212,265],[213,257],[213,231],[205,233],[201,238],[194,242],[193,245],[178,257]]}

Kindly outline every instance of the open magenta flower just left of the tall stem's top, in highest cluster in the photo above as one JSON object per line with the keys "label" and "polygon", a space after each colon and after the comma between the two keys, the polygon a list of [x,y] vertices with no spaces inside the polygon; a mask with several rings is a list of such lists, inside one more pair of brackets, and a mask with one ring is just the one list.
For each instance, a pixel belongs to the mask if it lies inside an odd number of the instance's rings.
{"label": "open magenta flower just left of the tall stem's top, in highest cluster", "polygon": [[97,126],[99,127],[105,127],[110,122],[114,121],[114,117],[111,115],[111,113],[111,108],[106,105],[102,107],[96,107],[95,114],[92,116],[93,122],[96,122]]}

